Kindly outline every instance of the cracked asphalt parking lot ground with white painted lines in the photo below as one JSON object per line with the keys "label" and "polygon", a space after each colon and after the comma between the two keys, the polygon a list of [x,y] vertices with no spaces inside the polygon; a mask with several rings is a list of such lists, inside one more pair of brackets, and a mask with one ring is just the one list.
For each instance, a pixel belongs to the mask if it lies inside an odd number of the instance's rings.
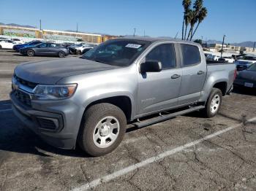
{"label": "cracked asphalt parking lot ground with white painted lines", "polygon": [[24,127],[10,104],[13,69],[65,59],[0,50],[0,190],[256,190],[256,93],[223,98],[216,117],[200,112],[136,130],[103,157],[55,149]]}

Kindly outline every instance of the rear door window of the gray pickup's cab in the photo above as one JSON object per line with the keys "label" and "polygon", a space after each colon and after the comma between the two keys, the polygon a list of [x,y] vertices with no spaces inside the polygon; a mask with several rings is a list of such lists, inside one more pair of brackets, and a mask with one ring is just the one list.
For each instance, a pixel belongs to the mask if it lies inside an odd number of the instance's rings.
{"label": "rear door window of the gray pickup's cab", "polygon": [[198,47],[189,45],[189,44],[181,44],[181,54],[183,58],[183,66],[192,66],[201,62],[200,52]]}

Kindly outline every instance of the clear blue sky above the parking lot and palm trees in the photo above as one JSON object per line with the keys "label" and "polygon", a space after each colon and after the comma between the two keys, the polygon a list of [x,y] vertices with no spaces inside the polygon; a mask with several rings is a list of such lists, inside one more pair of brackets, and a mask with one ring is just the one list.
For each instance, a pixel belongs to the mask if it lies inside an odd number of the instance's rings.
{"label": "clear blue sky above the parking lot and palm trees", "polygon": [[[208,17],[195,38],[227,42],[256,41],[255,0],[205,0]],[[52,30],[78,30],[113,35],[181,37],[181,0],[1,0],[1,23],[17,23]]]}

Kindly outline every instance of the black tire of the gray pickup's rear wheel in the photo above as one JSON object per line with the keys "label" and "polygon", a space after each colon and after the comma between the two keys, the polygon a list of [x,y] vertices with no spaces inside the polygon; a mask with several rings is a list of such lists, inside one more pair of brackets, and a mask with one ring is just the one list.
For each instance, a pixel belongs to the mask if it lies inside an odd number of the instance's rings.
{"label": "black tire of the gray pickup's rear wheel", "polygon": [[[214,105],[211,106],[211,104],[213,99],[217,97],[219,97],[219,102],[217,103],[219,106],[217,106],[217,108],[214,109]],[[219,108],[221,105],[222,105],[222,91],[219,90],[218,88],[212,88],[211,93],[206,102],[206,108],[203,109],[202,112],[205,115],[205,117],[208,117],[208,118],[214,117],[215,115],[218,114]]]}

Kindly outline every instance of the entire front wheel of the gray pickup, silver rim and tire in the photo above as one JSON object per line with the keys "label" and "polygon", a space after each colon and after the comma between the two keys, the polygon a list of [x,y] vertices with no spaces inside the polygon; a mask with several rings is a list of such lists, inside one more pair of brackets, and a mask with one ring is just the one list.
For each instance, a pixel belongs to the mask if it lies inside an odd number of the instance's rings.
{"label": "entire front wheel of the gray pickup, silver rim and tire", "polygon": [[84,114],[78,144],[91,156],[108,154],[121,143],[126,126],[127,119],[120,108],[108,103],[96,104]]}

